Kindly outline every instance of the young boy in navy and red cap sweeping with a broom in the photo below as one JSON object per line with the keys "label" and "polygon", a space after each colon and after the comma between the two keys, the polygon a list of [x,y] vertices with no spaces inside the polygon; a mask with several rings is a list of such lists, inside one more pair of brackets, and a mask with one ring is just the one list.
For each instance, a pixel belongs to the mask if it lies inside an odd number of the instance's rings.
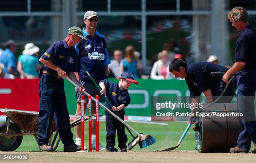
{"label": "young boy in navy and red cap sweeping with a broom", "polygon": [[[120,118],[124,120],[125,110],[124,107],[128,106],[131,102],[131,98],[128,93],[128,88],[132,83],[138,85],[138,82],[134,80],[133,74],[129,72],[123,72],[121,77],[119,77],[119,83],[113,83],[108,80],[100,81],[100,88],[102,90],[100,93],[108,98],[112,107],[105,101],[105,106],[112,110],[114,113],[118,112]],[[126,143],[127,143],[127,135],[125,134],[125,126],[118,121],[113,115],[106,112],[106,143],[107,150],[110,152],[117,152],[117,148],[115,148],[115,133],[118,135],[118,147],[121,152],[127,152]]]}

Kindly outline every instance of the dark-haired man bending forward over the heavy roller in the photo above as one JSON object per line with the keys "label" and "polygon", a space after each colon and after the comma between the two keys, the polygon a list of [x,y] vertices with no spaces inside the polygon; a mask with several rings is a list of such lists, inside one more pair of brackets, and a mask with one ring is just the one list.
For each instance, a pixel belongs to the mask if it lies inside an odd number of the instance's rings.
{"label": "dark-haired man bending forward over the heavy roller", "polygon": [[[222,75],[211,75],[210,73],[225,73],[227,70],[228,68],[215,63],[199,62],[187,64],[181,59],[174,59],[169,65],[169,71],[175,78],[185,78],[192,103],[199,102],[201,93],[205,94],[208,103],[216,100],[225,89],[226,83],[222,81]],[[236,89],[236,83],[234,83],[234,88]],[[233,85],[230,84],[217,103],[230,103],[234,95]]]}

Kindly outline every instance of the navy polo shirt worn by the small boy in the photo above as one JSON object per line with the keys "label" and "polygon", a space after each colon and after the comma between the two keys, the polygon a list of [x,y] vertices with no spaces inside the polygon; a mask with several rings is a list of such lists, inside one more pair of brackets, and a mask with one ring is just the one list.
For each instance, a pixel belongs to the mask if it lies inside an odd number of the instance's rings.
{"label": "navy polo shirt worn by the small boy", "polygon": [[[131,102],[131,98],[129,96],[128,90],[121,90],[118,86],[118,83],[113,83],[108,80],[101,80],[100,83],[105,83],[106,87],[106,96],[110,101],[111,105],[118,107],[120,105],[128,106]],[[107,101],[105,101],[105,106],[111,110],[110,105],[108,105]],[[120,115],[125,115],[124,108],[119,110],[118,113]]]}

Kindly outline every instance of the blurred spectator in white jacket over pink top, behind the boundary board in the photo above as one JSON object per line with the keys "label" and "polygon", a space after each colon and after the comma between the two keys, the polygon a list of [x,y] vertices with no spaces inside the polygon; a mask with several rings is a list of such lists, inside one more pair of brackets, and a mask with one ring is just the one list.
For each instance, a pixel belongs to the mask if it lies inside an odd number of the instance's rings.
{"label": "blurred spectator in white jacket over pink top, behind the boundary board", "polygon": [[155,80],[173,78],[173,75],[169,72],[169,53],[167,50],[163,50],[158,54],[158,61],[153,65],[150,73],[150,78]]}

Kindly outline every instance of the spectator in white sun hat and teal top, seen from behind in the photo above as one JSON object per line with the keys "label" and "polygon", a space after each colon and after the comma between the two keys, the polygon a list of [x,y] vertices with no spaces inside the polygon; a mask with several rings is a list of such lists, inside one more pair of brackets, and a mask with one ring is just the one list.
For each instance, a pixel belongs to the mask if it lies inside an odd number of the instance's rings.
{"label": "spectator in white sun hat and teal top, seen from behind", "polygon": [[17,70],[22,79],[38,78],[40,64],[38,61],[39,48],[33,43],[27,43],[18,59]]}

